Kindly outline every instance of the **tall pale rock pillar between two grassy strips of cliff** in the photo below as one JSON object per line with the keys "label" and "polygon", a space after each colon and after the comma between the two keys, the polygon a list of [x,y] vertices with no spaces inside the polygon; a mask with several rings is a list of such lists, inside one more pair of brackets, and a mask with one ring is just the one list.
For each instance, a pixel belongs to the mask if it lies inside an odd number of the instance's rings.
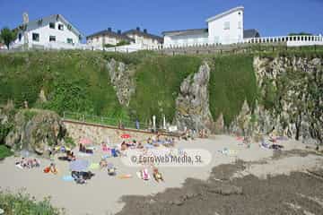
{"label": "tall pale rock pillar between two grassy strips of cliff", "polygon": [[207,85],[210,78],[210,67],[204,63],[197,73],[190,74],[180,85],[179,97],[176,99],[175,123],[179,130],[206,129],[213,127],[209,109]]}

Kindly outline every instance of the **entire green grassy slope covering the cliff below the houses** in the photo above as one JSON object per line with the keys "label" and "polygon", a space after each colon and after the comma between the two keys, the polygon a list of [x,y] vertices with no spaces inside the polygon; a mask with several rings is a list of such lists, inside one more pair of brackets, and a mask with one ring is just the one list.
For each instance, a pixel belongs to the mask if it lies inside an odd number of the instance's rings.
{"label": "entire green grassy slope covering the cliff below the houses", "polygon": [[[323,56],[322,52],[282,52],[262,56]],[[128,108],[118,103],[109,82],[107,60],[115,58],[135,69],[136,91]],[[13,98],[22,106],[45,107],[99,116],[139,117],[142,123],[162,113],[170,120],[180,83],[196,73],[202,60],[211,66],[209,83],[210,110],[214,120],[223,113],[226,125],[239,114],[244,99],[254,105],[257,97],[253,56],[160,56],[153,52],[133,54],[92,51],[28,52],[0,55],[0,102]],[[39,105],[40,89],[49,102]]]}

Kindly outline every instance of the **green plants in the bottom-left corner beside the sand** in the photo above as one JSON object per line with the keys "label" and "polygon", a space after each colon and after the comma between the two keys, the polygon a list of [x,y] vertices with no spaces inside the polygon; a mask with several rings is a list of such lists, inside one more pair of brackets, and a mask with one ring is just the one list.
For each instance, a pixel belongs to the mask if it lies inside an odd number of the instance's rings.
{"label": "green plants in the bottom-left corner beside the sand", "polygon": [[8,193],[0,191],[0,208],[6,215],[59,215],[65,214],[64,210],[57,209],[50,204],[50,199],[45,198],[36,202],[34,197],[25,193]]}

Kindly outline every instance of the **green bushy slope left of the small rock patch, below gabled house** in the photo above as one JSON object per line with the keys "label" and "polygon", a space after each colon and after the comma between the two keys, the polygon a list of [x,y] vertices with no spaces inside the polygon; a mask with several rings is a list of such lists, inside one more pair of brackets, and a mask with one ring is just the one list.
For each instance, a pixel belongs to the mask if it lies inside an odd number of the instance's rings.
{"label": "green bushy slope left of the small rock patch, below gabled house", "polygon": [[[105,56],[90,51],[33,51],[0,55],[0,100],[22,107],[75,111],[100,116],[125,112],[109,81]],[[48,102],[39,105],[44,90]]]}

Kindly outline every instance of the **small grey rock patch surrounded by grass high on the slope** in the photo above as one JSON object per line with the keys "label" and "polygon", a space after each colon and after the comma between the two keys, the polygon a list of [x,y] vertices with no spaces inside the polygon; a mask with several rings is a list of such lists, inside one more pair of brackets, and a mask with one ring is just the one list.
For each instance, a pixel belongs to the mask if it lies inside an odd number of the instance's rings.
{"label": "small grey rock patch surrounded by grass high on the slope", "polygon": [[127,64],[111,59],[108,64],[110,82],[117,92],[121,105],[128,106],[131,95],[135,92],[135,83],[132,78],[135,71],[130,70]]}

